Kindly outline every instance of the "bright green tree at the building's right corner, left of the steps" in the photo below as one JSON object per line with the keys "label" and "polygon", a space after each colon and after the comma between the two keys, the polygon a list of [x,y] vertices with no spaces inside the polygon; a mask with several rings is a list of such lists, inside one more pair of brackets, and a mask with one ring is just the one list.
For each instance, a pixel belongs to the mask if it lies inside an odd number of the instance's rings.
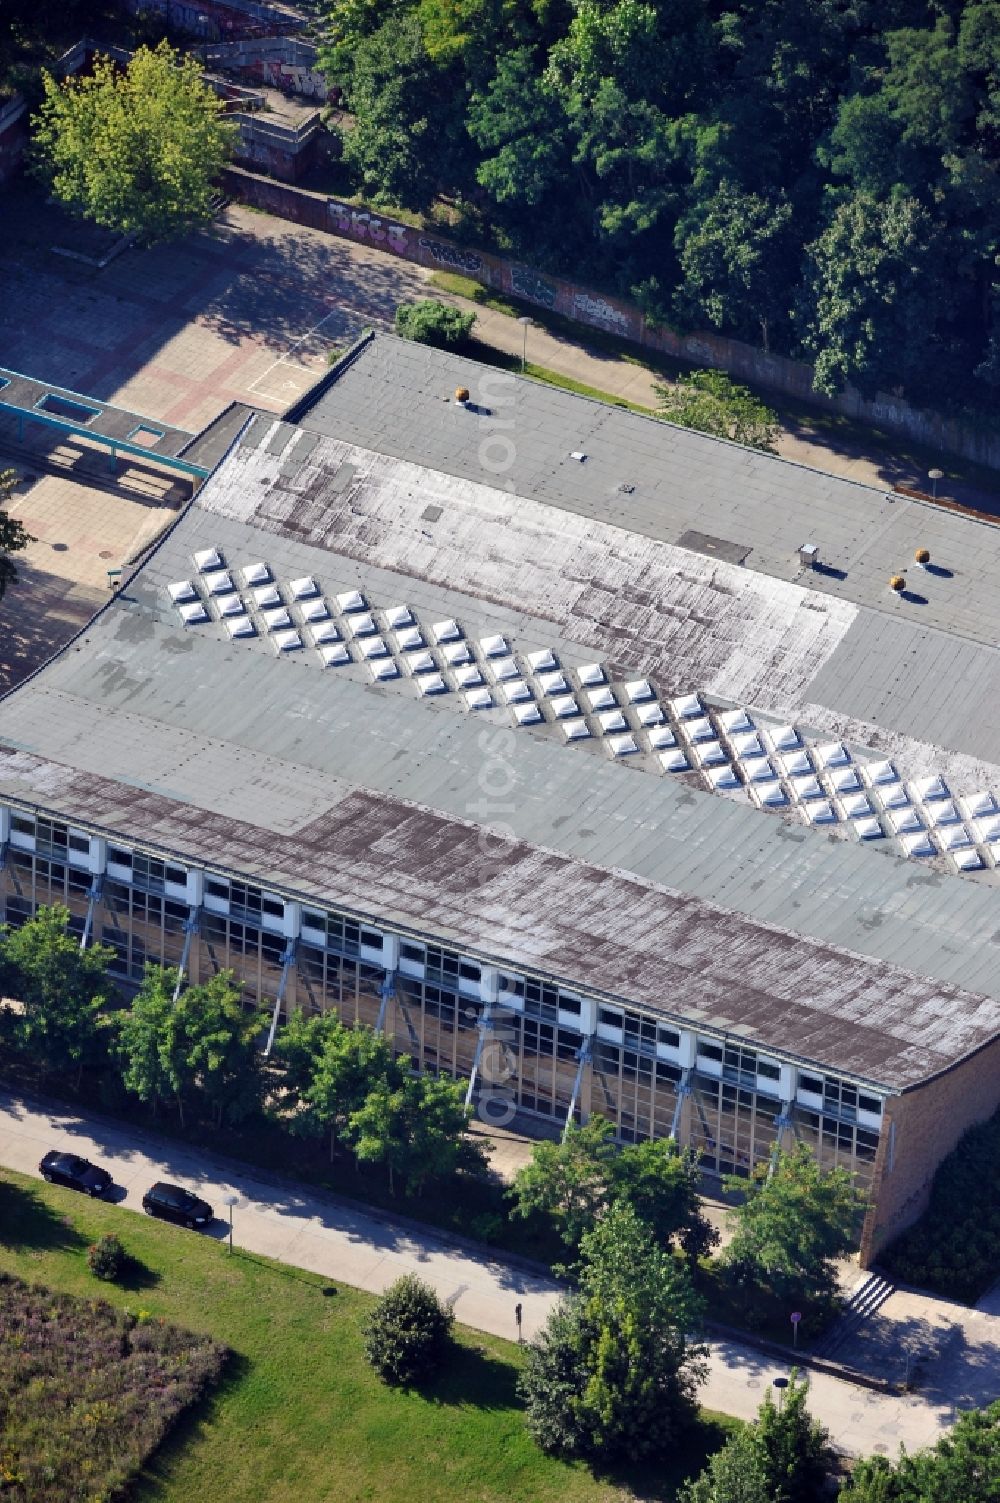
{"label": "bright green tree at the building's right corner, left of the steps", "polygon": [[729,1213],[732,1240],[722,1261],[737,1278],[782,1297],[829,1300],[835,1260],[854,1246],[863,1196],[848,1169],[821,1169],[808,1144],[774,1150],[749,1180],[729,1175],[726,1190],[743,1195]]}

